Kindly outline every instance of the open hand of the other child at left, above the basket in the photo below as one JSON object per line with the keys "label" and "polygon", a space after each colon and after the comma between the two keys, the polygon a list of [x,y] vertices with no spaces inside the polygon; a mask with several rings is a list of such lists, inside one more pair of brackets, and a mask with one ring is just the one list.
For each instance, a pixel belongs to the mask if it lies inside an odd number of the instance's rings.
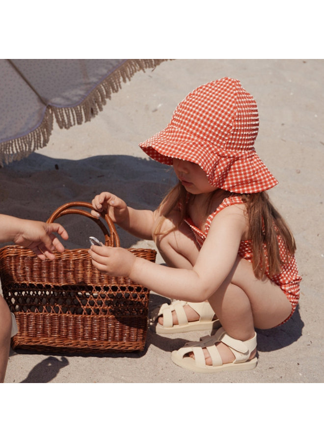
{"label": "open hand of the other child at left, above the basket", "polygon": [[55,249],[59,252],[64,251],[64,246],[54,232],[64,240],[69,238],[64,227],[56,222],[19,220],[19,232],[15,235],[13,242],[32,250],[42,260],[46,258],[53,260],[55,256],[52,252]]}

